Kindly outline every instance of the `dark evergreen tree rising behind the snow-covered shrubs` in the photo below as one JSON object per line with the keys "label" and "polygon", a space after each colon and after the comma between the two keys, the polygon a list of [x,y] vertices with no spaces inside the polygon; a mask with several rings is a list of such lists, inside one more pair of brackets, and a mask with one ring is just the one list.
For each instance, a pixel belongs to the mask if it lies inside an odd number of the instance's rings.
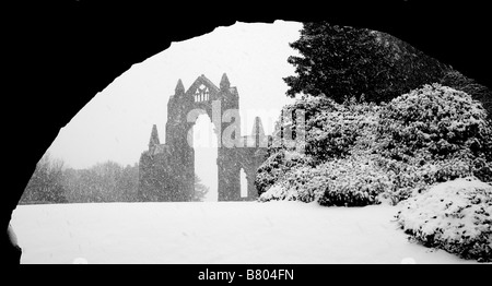
{"label": "dark evergreen tree rising behind the snow-covered shrubs", "polygon": [[304,23],[290,44],[301,56],[288,62],[296,75],[284,78],[288,95],[387,102],[426,83],[438,82],[450,68],[388,34],[366,28]]}

